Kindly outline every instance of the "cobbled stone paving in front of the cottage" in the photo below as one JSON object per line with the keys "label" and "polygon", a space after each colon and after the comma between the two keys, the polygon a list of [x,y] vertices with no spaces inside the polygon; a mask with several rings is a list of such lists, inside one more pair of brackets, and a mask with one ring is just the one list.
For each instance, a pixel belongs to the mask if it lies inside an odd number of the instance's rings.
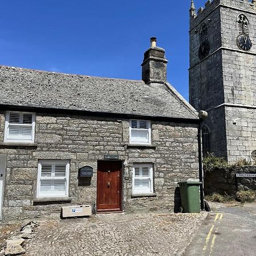
{"label": "cobbled stone paving in front of the cottage", "polygon": [[25,255],[181,255],[207,213],[100,214],[39,221]]}

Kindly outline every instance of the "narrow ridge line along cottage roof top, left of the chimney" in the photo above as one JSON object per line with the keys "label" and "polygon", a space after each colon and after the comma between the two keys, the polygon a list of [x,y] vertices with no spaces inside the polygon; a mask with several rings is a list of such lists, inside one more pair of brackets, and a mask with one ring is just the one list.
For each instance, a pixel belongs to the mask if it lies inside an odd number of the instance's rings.
{"label": "narrow ridge line along cottage roof top, left of the chimney", "polygon": [[6,66],[6,65],[0,65],[0,68],[22,69],[22,70],[25,70],[25,71],[34,71],[34,72],[38,72],[38,73],[51,73],[51,74],[56,74],[56,75],[80,76],[80,77],[88,77],[88,78],[96,78],[96,79],[109,79],[109,80],[143,82],[142,80],[121,79],[121,78],[102,77],[102,76],[89,76],[89,75],[81,75],[81,74],[74,74],[74,73],[63,73],[63,72],[46,71],[46,70],[41,70],[41,69],[10,67],[10,66]]}

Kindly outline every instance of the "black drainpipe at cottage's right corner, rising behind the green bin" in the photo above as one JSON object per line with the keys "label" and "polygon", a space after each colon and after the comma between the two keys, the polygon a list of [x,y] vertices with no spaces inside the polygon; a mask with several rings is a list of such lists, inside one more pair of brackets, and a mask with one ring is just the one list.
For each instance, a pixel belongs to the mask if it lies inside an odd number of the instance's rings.
{"label": "black drainpipe at cottage's right corner, rising behind the green bin", "polygon": [[200,200],[201,210],[204,210],[204,171],[203,171],[203,153],[202,153],[202,123],[205,118],[208,117],[208,113],[201,110],[198,114],[200,118],[199,130],[198,130],[198,149],[199,149],[199,180],[200,185]]}

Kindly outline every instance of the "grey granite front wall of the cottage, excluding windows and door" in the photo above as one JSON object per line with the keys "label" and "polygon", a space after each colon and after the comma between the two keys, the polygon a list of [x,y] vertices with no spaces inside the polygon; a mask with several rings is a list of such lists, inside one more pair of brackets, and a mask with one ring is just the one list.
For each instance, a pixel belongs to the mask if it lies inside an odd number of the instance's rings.
{"label": "grey granite front wall of the cottage, excluding windows and door", "polygon": [[[152,121],[152,146],[129,146],[129,119],[36,113],[35,144],[3,143],[5,112],[0,112],[0,154],[7,155],[3,221],[60,214],[61,206],[91,204],[97,196],[97,160],[119,155],[123,161],[123,210],[173,211],[177,182],[198,178],[197,125]],[[71,201],[36,200],[38,162],[70,160]],[[154,197],[132,197],[133,163],[154,164]],[[79,168],[92,166],[89,182]]]}

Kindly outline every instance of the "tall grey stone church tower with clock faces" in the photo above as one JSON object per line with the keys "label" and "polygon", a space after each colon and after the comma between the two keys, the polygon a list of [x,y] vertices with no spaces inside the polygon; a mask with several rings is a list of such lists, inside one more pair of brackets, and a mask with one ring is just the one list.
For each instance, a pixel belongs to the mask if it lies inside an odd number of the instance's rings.
{"label": "tall grey stone church tower with clock faces", "polygon": [[203,152],[256,160],[256,1],[191,1],[189,101],[208,112]]}

